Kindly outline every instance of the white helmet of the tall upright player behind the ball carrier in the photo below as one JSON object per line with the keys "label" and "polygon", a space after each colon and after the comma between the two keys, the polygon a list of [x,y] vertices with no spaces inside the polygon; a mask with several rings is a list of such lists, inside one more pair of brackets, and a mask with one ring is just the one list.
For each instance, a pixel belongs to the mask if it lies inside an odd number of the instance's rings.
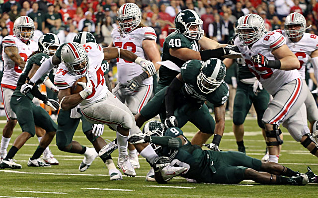
{"label": "white helmet of the tall upright player behind the ball carrier", "polygon": [[[132,19],[129,22],[124,22],[125,20]],[[141,22],[141,10],[135,3],[125,3],[118,10],[117,20],[120,29],[124,33],[130,33]]]}

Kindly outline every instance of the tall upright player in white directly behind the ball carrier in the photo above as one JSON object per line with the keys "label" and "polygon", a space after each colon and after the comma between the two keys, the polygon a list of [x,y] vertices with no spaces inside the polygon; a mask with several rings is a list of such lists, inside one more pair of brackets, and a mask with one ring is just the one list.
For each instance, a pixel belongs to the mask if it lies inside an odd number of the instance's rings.
{"label": "tall upright player in white directly behind the ball carrier", "polygon": [[[158,61],[161,60],[156,44],[157,35],[152,27],[141,23],[141,10],[135,3],[125,3],[118,10],[119,27],[114,28],[113,39],[109,47],[128,49],[144,59],[152,61],[159,69]],[[143,73],[140,65],[124,59],[117,58],[118,84],[112,93],[135,115],[148,102],[153,93],[154,70],[149,75]],[[134,168],[140,168],[137,150],[128,145],[129,160]]]}

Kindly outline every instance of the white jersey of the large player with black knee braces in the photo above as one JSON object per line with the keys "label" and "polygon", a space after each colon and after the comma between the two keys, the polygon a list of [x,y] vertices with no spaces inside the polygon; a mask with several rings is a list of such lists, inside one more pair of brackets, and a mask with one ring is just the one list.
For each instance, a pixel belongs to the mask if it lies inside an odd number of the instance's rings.
{"label": "white jersey of the large player with black knee braces", "polygon": [[268,32],[267,34],[264,34],[250,49],[247,46],[241,45],[239,37],[234,41],[234,45],[238,46],[241,56],[245,59],[249,70],[271,95],[274,95],[284,84],[289,83],[296,78],[300,78],[299,72],[297,70],[284,71],[262,67],[251,61],[251,57],[261,53],[269,60],[275,60],[275,56],[271,51],[285,44],[285,38],[278,32]]}

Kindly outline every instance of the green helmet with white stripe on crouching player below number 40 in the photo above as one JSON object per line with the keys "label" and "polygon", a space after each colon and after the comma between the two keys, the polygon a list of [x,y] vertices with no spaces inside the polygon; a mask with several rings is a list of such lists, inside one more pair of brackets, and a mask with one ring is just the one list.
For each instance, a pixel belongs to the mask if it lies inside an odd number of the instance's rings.
{"label": "green helmet with white stripe on crouching player below number 40", "polygon": [[197,84],[204,94],[214,92],[223,83],[226,73],[225,64],[217,58],[210,58],[201,66],[197,76]]}

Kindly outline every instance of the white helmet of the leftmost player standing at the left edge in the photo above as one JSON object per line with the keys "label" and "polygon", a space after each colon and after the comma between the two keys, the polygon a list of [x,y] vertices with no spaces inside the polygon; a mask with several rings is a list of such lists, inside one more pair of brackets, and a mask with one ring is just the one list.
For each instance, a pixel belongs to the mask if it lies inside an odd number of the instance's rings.
{"label": "white helmet of the leftmost player standing at the left edge", "polygon": [[[23,27],[28,27],[31,30],[29,32],[22,31]],[[20,16],[18,17],[13,24],[13,34],[19,38],[21,41],[28,41],[33,38],[34,35],[34,22],[28,16]],[[26,37],[25,33],[30,33],[29,37]],[[23,36],[24,35],[24,36]]]}

